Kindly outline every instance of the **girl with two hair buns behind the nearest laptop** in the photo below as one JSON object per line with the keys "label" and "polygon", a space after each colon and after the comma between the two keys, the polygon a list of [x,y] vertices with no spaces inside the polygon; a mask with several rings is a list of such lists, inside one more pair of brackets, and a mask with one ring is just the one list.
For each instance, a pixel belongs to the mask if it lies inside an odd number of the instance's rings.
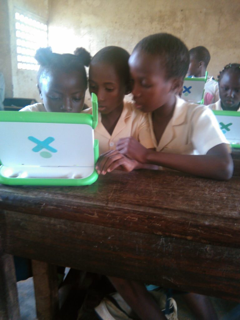
{"label": "girl with two hair buns behind the nearest laptop", "polygon": [[40,48],[35,59],[40,64],[37,87],[43,103],[26,106],[20,111],[81,112],[87,89],[84,66],[89,66],[90,53],[84,48],[78,48],[75,54]]}

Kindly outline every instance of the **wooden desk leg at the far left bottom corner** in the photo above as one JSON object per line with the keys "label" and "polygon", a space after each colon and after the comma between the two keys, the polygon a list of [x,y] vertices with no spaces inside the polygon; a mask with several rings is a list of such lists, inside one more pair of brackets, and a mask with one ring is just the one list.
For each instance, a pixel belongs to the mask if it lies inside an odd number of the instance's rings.
{"label": "wooden desk leg at the far left bottom corner", "polygon": [[0,249],[0,319],[20,320],[13,256]]}

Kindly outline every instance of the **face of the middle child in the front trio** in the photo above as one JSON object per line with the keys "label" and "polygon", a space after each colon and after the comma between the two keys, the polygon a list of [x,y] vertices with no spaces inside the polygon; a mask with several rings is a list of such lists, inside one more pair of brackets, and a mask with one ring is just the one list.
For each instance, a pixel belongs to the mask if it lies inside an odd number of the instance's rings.
{"label": "face of the middle child in the front trio", "polygon": [[98,97],[98,110],[109,114],[116,108],[122,108],[126,87],[113,65],[95,62],[89,68],[89,91]]}

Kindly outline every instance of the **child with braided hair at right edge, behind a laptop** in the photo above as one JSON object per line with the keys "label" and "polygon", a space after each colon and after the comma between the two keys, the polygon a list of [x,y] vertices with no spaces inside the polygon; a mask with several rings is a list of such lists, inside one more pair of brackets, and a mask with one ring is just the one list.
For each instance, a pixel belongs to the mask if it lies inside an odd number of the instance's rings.
{"label": "child with braided hair at right edge, behind a laptop", "polygon": [[240,111],[240,64],[227,64],[218,75],[220,100],[210,104],[212,110]]}

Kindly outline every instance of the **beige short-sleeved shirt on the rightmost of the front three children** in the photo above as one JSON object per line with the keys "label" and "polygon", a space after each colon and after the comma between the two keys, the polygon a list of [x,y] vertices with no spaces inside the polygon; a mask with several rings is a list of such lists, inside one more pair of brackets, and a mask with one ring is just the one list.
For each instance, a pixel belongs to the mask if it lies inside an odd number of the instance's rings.
{"label": "beige short-sleeved shirt on the rightmost of the front three children", "polygon": [[176,96],[172,119],[157,144],[152,114],[148,114],[150,132],[156,151],[180,155],[205,155],[220,143],[228,143],[216,117],[207,106],[188,103]]}

